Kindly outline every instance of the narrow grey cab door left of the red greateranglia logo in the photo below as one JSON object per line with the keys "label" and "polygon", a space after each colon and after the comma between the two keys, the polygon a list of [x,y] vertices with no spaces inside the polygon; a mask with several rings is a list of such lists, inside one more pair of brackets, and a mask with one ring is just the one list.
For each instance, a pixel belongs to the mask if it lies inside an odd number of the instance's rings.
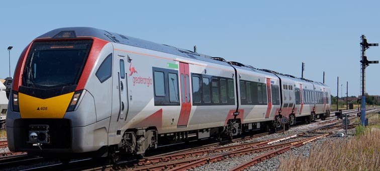
{"label": "narrow grey cab door left of the red greateranglia logo", "polygon": [[117,121],[125,121],[127,119],[128,113],[128,86],[127,86],[127,78],[124,66],[124,56],[118,55],[117,60],[115,60],[114,67],[117,68],[118,71],[118,88],[119,88],[119,115]]}

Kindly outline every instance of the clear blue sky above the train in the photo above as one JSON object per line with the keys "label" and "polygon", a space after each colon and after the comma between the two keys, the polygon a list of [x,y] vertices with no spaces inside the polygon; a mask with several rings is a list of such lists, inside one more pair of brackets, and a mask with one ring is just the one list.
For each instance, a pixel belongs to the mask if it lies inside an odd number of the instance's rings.
{"label": "clear blue sky above the train", "polygon": [[[380,43],[379,1],[4,1],[0,7],[0,78],[22,50],[61,27],[94,27],[223,57],[360,94],[360,36]],[[366,56],[380,60],[380,47]],[[366,92],[379,95],[380,64],[366,69]],[[339,91],[339,96],[341,92]]]}

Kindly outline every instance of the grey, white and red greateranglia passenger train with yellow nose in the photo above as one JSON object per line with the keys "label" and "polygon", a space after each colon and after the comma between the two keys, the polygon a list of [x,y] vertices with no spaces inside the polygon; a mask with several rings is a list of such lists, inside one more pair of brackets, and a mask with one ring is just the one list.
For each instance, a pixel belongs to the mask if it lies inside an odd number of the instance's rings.
{"label": "grey, white and red greateranglia passenger train with yellow nose", "polygon": [[60,28],[20,55],[8,146],[61,161],[142,158],[163,144],[325,119],[330,96],[324,83],[195,50],[96,28]]}

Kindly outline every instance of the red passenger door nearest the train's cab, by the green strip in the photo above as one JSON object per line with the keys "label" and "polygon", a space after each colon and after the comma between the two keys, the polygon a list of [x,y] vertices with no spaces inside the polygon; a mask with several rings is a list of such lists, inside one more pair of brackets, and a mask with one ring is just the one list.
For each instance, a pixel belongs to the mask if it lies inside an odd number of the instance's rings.
{"label": "red passenger door nearest the train's cab, by the green strip", "polygon": [[181,87],[181,111],[177,126],[187,126],[192,109],[188,63],[179,62],[179,82]]}

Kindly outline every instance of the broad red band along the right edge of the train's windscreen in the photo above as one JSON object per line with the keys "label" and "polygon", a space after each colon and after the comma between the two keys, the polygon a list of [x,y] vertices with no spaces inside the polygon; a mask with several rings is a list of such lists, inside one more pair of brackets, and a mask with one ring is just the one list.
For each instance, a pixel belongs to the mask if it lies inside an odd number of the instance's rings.
{"label": "broad red band along the right edge of the train's windscreen", "polygon": [[80,79],[78,81],[78,85],[76,86],[75,91],[83,90],[84,85],[87,82],[88,76],[91,73],[91,70],[93,68],[93,65],[95,64],[95,61],[97,61],[99,57],[99,53],[103,49],[103,47],[109,42],[98,38],[92,38],[93,43],[91,46],[91,50],[88,54],[86,64],[84,65],[82,74],[80,75]]}

